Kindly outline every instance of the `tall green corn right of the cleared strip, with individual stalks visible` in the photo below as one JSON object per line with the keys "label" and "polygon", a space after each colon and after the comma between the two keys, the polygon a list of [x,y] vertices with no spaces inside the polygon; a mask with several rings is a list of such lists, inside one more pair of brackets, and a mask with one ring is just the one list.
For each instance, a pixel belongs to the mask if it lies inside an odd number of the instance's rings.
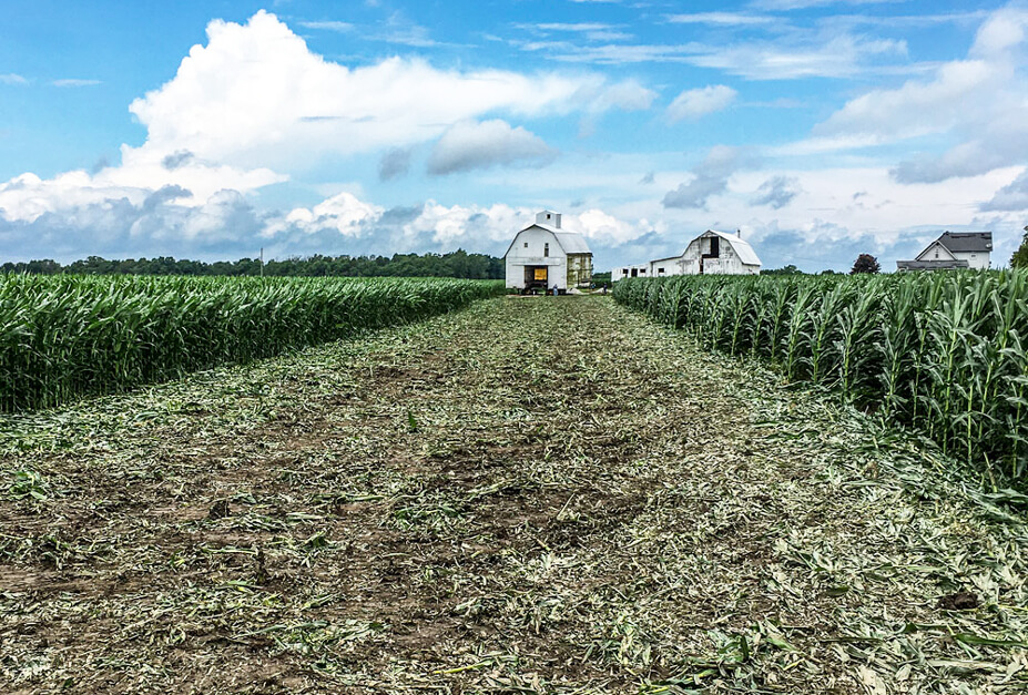
{"label": "tall green corn right of the cleared strip, with individual stalks visible", "polygon": [[624,279],[705,347],[837,390],[998,478],[1028,468],[1028,273]]}

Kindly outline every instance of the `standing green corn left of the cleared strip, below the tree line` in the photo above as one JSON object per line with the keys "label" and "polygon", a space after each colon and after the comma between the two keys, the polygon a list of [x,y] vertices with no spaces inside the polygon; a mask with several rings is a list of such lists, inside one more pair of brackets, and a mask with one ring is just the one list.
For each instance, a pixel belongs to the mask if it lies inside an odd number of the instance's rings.
{"label": "standing green corn left of the cleared strip, below the tree line", "polygon": [[0,410],[271,357],[502,292],[459,279],[0,275]]}

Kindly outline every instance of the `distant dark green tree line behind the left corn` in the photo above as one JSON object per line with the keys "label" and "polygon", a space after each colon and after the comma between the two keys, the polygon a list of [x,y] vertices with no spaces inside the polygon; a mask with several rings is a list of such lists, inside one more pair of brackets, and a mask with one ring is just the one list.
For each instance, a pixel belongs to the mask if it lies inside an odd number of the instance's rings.
{"label": "distant dark green tree line behind the left corn", "polygon": [[[394,254],[389,256],[305,256],[268,260],[263,274],[277,277],[460,277],[468,279],[500,279],[505,275],[502,258],[486,254],[469,254],[462,249],[448,254]],[[157,258],[125,258],[109,260],[90,256],[68,265],[57,260],[42,259],[0,265],[0,273],[28,273],[32,275],[261,275],[261,260],[175,259],[171,256]]]}

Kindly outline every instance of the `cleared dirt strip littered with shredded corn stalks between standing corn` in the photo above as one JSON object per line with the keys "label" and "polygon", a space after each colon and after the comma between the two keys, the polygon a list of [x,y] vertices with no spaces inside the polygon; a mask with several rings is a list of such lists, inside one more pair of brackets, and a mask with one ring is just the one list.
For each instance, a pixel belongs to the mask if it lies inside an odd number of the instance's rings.
{"label": "cleared dirt strip littered with shredded corn stalks between standing corn", "polygon": [[1017,512],[607,298],[0,428],[4,692],[1028,683]]}

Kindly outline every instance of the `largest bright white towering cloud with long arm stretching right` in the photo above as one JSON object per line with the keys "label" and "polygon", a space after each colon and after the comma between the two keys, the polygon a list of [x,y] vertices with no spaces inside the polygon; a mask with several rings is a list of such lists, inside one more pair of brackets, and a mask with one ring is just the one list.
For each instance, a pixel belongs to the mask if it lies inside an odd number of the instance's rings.
{"label": "largest bright white towering cloud with long arm stretching right", "polygon": [[406,146],[493,112],[519,116],[641,109],[653,93],[600,75],[437,70],[390,58],[348,69],[312,53],[277,18],[215,21],[173,80],[130,108],[144,149],[190,150],[220,162],[298,166],[328,153]]}

